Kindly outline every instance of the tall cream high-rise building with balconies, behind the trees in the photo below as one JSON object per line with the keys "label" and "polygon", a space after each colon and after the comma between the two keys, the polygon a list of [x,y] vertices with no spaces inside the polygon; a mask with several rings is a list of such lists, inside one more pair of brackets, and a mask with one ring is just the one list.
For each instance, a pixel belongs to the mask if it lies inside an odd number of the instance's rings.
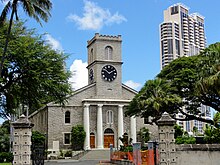
{"label": "tall cream high-rise building with balconies, behind the trees", "polygon": [[[164,11],[164,22],[160,24],[160,64],[161,69],[172,60],[197,55],[206,46],[204,17],[198,13],[189,14],[189,8],[181,3],[170,6]],[[211,117],[210,107],[201,105],[201,113]],[[178,114],[178,117],[183,117]],[[202,133],[204,123],[200,121],[177,121],[185,131],[197,127]]]}

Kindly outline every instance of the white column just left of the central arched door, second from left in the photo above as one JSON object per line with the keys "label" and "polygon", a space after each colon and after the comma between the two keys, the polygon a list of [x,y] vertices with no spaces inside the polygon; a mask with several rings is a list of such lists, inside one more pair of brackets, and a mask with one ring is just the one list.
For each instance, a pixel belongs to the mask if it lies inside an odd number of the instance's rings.
{"label": "white column just left of the central arched door, second from left", "polygon": [[98,104],[97,112],[97,148],[103,148],[102,104]]}

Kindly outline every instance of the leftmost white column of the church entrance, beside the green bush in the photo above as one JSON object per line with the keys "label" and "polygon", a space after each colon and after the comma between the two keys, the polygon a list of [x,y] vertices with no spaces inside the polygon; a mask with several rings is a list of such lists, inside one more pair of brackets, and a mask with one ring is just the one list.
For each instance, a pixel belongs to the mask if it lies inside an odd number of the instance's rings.
{"label": "leftmost white column of the church entrance, beside the green bush", "polygon": [[89,104],[84,104],[83,125],[86,132],[84,150],[90,149]]}

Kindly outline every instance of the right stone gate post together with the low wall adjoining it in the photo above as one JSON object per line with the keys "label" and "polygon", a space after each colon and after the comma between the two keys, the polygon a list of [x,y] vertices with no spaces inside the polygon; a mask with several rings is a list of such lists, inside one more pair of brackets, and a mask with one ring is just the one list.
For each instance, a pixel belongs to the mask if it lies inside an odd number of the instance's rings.
{"label": "right stone gate post together with the low wall adjoining it", "polygon": [[219,165],[220,144],[174,144],[174,123],[164,113],[159,125],[160,165]]}

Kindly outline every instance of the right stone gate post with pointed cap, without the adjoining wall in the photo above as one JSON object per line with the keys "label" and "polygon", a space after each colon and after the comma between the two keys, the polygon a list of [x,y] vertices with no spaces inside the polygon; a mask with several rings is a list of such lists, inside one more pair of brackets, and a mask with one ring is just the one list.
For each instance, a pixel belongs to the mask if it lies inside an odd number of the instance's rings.
{"label": "right stone gate post with pointed cap, without the adjoining wall", "polygon": [[175,123],[166,112],[158,120],[160,165],[176,165]]}

